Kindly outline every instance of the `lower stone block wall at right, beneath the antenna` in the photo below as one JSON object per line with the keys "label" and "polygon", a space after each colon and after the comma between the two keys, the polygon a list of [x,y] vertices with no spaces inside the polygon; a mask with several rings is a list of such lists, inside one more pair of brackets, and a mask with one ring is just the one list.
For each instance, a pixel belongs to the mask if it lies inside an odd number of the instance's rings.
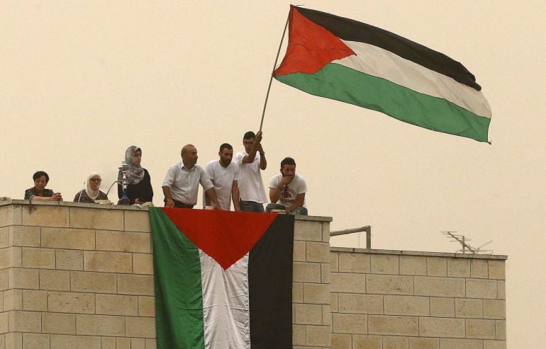
{"label": "lower stone block wall at right, beneath the antenna", "polygon": [[506,256],[330,251],[331,348],[506,348]]}

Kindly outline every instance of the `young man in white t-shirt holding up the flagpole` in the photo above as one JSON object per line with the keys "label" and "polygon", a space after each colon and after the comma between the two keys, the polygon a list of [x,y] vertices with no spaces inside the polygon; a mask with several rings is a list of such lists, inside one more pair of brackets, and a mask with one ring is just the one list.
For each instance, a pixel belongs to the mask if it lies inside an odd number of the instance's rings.
{"label": "young man in white t-shirt holding up the flagpole", "polygon": [[239,165],[239,191],[241,210],[247,212],[264,212],[267,202],[261,171],[267,168],[264,149],[262,148],[262,132],[246,132],[243,136],[245,151],[235,155]]}

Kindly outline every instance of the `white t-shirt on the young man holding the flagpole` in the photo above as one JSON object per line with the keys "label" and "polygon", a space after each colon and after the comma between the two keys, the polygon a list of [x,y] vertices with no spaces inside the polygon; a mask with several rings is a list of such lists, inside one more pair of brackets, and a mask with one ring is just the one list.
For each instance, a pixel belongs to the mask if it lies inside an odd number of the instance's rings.
{"label": "white t-shirt on the young man holding the flagpole", "polygon": [[260,153],[256,153],[254,162],[243,164],[243,158],[247,155],[246,151],[235,155],[235,163],[239,165],[239,192],[241,200],[264,204],[267,202],[267,195],[265,195],[262,171],[260,171]]}

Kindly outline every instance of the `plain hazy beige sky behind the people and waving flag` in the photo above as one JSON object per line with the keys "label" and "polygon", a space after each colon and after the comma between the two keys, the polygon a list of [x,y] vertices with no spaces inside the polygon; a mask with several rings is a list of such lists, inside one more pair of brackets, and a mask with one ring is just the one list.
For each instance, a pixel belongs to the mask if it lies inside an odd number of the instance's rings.
{"label": "plain hazy beige sky behind the people and waving flag", "polygon": [[[311,214],[332,229],[371,224],[374,248],[454,252],[440,234],[506,254],[509,348],[543,342],[546,304],[546,2],[310,1],[309,8],[403,35],[462,62],[491,104],[492,144],[404,124],[273,81],[269,167],[293,156]],[[287,1],[2,1],[0,196],[32,174],[72,200],[103,189],[126,147],[143,149],[155,204],[168,166],[193,143],[243,149],[257,130]],[[284,54],[284,49],[282,55]],[[106,188],[104,188],[106,187]],[[110,195],[115,198],[115,192]],[[333,246],[364,246],[358,234]]]}

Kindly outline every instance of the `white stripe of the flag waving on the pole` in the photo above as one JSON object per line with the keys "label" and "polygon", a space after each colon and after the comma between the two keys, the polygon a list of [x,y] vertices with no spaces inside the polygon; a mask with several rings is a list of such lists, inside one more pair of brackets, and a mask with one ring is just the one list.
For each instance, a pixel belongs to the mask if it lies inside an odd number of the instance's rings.
{"label": "white stripe of the flag waving on the pole", "polygon": [[336,59],[341,64],[365,74],[377,76],[428,96],[444,98],[484,118],[491,118],[491,108],[481,91],[395,55],[389,50],[364,42],[342,40],[357,55]]}

